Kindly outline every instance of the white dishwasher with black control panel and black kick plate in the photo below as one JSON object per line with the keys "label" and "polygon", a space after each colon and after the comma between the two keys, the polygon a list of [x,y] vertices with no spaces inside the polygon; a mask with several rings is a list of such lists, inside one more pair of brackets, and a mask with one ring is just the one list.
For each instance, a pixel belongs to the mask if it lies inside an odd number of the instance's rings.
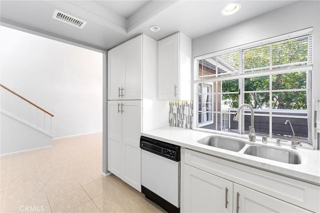
{"label": "white dishwasher with black control panel and black kick plate", "polygon": [[180,212],[180,147],[141,136],[141,192],[169,213]]}

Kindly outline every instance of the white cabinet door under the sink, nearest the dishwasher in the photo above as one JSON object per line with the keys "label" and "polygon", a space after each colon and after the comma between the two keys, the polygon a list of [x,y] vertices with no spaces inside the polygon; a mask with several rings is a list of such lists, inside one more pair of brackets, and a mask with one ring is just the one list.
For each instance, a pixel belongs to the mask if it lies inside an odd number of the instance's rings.
{"label": "white cabinet door under the sink, nearest the dishwasher", "polygon": [[184,212],[231,213],[233,183],[184,165]]}

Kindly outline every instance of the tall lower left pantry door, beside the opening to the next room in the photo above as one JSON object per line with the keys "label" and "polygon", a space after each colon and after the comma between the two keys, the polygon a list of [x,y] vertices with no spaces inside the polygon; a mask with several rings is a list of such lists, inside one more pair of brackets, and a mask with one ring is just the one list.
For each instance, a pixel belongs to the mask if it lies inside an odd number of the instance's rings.
{"label": "tall lower left pantry door, beside the opening to the next room", "polygon": [[121,158],[121,102],[108,101],[107,104],[107,153],[108,153],[108,170],[121,177],[122,158]]}

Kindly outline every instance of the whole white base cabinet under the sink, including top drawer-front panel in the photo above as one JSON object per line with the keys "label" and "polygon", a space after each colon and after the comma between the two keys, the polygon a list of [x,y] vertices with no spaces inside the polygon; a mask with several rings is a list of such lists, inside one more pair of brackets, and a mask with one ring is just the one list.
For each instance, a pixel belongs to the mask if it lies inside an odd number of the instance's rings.
{"label": "whole white base cabinet under the sink, including top drawer-front panel", "polygon": [[318,212],[318,186],[188,149],[181,156],[181,212]]}

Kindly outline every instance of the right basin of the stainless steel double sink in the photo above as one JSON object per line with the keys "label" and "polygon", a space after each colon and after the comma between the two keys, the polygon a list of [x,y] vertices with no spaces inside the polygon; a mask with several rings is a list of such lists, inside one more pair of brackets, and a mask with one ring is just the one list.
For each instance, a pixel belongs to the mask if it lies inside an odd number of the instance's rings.
{"label": "right basin of the stainless steel double sink", "polygon": [[301,159],[299,155],[287,150],[278,150],[259,146],[249,146],[244,151],[244,154],[287,164],[301,164]]}

